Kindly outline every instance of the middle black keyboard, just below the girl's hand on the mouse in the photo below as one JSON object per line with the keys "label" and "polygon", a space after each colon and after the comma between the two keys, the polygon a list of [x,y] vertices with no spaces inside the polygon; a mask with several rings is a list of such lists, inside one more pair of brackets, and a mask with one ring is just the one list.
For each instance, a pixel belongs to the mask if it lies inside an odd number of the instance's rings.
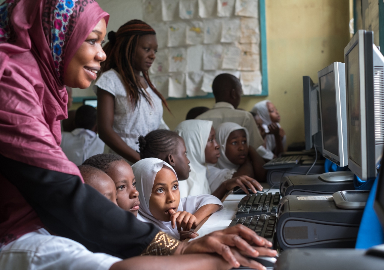
{"label": "middle black keyboard, just below the girl's hand on the mouse", "polygon": [[279,192],[247,195],[240,200],[235,217],[277,213],[279,201]]}

